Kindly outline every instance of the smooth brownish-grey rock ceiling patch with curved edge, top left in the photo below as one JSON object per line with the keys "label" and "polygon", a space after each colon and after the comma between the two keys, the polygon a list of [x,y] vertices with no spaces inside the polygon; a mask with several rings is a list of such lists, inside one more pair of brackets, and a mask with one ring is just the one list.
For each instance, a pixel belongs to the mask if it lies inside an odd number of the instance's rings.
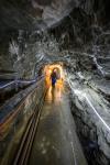
{"label": "smooth brownish-grey rock ceiling patch with curved edge, top left", "polygon": [[77,6],[75,0],[1,0],[0,30],[52,26]]}

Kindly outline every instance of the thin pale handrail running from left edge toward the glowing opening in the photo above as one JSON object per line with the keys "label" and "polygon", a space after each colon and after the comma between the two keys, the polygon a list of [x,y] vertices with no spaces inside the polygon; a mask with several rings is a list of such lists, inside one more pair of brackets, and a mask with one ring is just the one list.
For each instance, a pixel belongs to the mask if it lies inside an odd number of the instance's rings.
{"label": "thin pale handrail running from left edge toward the glowing opening", "polygon": [[15,80],[12,80],[12,81],[8,82],[7,85],[1,86],[0,89],[4,89],[4,88],[7,88],[7,87],[10,87],[11,85],[18,85],[18,84],[33,84],[33,82],[36,82],[37,80],[40,80],[40,79],[43,78],[43,77],[44,77],[44,76],[41,76],[41,77],[38,77],[38,79],[35,78],[35,79],[32,79],[32,80],[20,80],[20,79],[15,79]]}

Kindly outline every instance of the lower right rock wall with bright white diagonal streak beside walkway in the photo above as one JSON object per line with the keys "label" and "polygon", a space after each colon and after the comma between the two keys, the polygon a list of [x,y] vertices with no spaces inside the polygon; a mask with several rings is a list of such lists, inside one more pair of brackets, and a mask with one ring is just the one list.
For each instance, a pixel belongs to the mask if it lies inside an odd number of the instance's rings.
{"label": "lower right rock wall with bright white diagonal streak beside walkway", "polygon": [[[85,154],[90,165],[109,165],[110,164],[110,130],[109,113],[105,113],[105,107],[92,100],[97,92],[82,88],[78,80],[69,81],[72,88],[70,109],[77,125],[77,133],[84,146]],[[81,87],[80,87],[81,86]],[[77,87],[77,88],[76,88]],[[92,91],[92,92],[91,92]],[[94,94],[94,95],[92,95]],[[98,97],[94,99],[101,98]],[[101,98],[101,103],[105,100]],[[94,107],[95,106],[95,107]],[[109,108],[109,107],[107,107]],[[105,110],[105,111],[103,111]],[[108,110],[108,109],[107,109]],[[107,111],[108,112],[108,111]],[[108,121],[108,122],[107,122]]]}

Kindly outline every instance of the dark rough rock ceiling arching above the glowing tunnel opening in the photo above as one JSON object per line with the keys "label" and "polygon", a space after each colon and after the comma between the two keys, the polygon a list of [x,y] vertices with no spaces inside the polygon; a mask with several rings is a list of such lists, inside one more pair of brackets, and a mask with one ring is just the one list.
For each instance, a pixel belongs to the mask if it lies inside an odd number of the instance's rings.
{"label": "dark rough rock ceiling arching above the glowing tunnel opening", "polygon": [[70,66],[77,56],[95,70],[95,58],[109,55],[109,0],[1,0],[0,70],[31,78],[44,63]]}

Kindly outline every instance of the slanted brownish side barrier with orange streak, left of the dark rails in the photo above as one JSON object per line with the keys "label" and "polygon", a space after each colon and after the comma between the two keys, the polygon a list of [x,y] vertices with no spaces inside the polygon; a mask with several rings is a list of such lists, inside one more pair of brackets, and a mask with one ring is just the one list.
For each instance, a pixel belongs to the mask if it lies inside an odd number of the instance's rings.
{"label": "slanted brownish side barrier with orange streak, left of the dark rails", "polygon": [[[26,96],[20,101],[19,105],[15,105],[14,109],[12,109],[12,111],[9,112],[7,117],[4,116],[4,119],[0,122],[0,164],[1,165],[11,164],[11,161],[13,160],[13,155],[18,150],[18,146],[21,142],[23,133],[28,127],[30,119],[32,118],[34,110],[35,111],[38,110],[37,106],[44,94],[44,89],[45,89],[45,84],[43,78],[38,82],[33,85],[33,87],[30,87]],[[18,95],[16,99],[20,100],[20,98],[21,98],[21,94]],[[8,108],[8,106],[6,108]]]}

